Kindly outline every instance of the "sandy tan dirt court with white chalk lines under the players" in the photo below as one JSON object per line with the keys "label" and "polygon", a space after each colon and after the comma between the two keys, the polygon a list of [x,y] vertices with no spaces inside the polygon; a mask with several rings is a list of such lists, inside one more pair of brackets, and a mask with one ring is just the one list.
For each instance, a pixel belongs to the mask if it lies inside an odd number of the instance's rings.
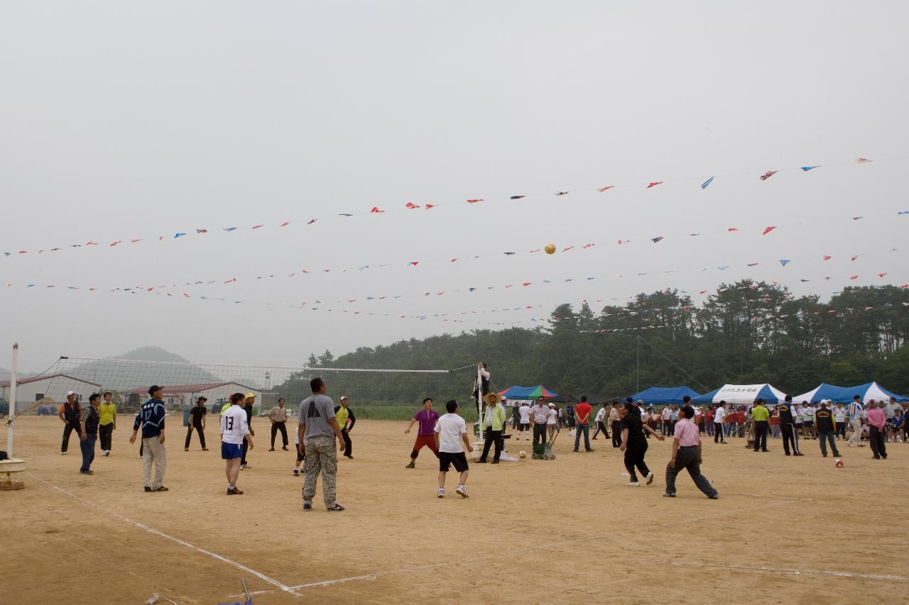
{"label": "sandy tan dirt court with white chalk lines under the players", "polygon": [[677,498],[662,497],[668,440],[650,441],[654,484],[630,488],[610,441],[573,453],[563,431],[556,460],[472,464],[470,499],[454,495],[453,471],[439,500],[431,453],[404,468],[415,438],[405,425],[357,422],[355,459],[338,470],[347,510],[329,513],[321,480],[314,511],[301,511],[295,453],[267,451],[266,419],[240,472],[245,495],[230,497],[215,422],[210,451],[194,436],[185,452],[185,429],[167,431],[170,491],[145,493],[127,419],[92,476],[78,472],[75,438],[59,454],[62,422],[22,419],[25,490],[0,492],[2,550],[15,561],[0,602],[144,603],[158,592],[233,603],[241,578],[255,605],[905,602],[907,444],[888,444],[885,461],[842,447],[836,469],[818,441],[802,442],[804,458],[785,457],[779,440],[769,453],[706,441],[711,501],[687,473]]}

